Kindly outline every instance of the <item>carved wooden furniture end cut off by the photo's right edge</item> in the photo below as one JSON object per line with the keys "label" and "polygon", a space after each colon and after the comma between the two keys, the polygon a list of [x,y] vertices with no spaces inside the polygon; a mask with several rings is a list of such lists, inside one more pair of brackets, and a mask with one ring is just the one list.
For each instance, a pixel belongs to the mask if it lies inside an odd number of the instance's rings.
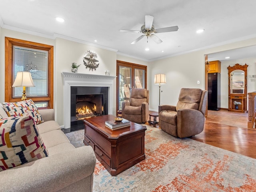
{"label": "carved wooden furniture end cut off by the photo's right edge", "polygon": [[255,109],[256,109],[255,97],[256,97],[256,92],[248,93],[248,128],[253,128],[255,124]]}

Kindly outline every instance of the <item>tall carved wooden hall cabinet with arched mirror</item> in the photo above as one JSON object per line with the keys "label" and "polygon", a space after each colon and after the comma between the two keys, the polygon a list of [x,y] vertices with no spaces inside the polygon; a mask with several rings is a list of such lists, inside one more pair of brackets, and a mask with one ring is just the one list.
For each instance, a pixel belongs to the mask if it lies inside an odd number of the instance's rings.
{"label": "tall carved wooden hall cabinet with arched mirror", "polygon": [[[235,64],[228,66],[228,110],[247,112],[247,67],[248,65]],[[238,109],[234,101],[240,102]]]}

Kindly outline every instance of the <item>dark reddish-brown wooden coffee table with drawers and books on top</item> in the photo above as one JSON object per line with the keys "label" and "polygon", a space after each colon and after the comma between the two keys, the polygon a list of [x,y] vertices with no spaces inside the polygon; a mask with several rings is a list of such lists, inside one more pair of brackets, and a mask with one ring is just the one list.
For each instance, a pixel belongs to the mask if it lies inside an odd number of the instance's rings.
{"label": "dark reddish-brown wooden coffee table with drawers and books on top", "polygon": [[84,119],[84,144],[92,146],[96,158],[113,176],[145,159],[144,136],[147,129],[131,122],[127,128],[110,130],[105,121],[115,117],[103,115]]}

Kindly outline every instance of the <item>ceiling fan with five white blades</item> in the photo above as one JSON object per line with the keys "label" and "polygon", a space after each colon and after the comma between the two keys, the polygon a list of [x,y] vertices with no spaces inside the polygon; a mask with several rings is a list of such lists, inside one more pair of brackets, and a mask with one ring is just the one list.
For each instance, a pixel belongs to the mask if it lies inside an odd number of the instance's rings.
{"label": "ceiling fan with five white blades", "polygon": [[123,30],[121,29],[120,32],[134,32],[134,33],[144,33],[144,35],[139,36],[136,40],[134,40],[131,44],[135,44],[139,40],[141,40],[143,37],[147,37],[147,42],[148,42],[148,37],[152,38],[154,42],[157,44],[162,43],[162,40],[158,38],[155,33],[164,33],[164,32],[172,32],[172,31],[178,31],[178,26],[172,26],[172,27],[165,27],[165,28],[159,28],[155,29],[153,25],[153,20],[154,17],[150,15],[145,16],[145,24],[141,26],[141,30]]}

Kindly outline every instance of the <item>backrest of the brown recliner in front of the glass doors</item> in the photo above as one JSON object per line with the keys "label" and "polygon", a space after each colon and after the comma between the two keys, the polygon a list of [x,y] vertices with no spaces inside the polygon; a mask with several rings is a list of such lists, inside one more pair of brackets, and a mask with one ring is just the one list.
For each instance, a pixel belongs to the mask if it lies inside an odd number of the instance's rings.
{"label": "backrest of the brown recliner in front of the glass doors", "polygon": [[131,106],[141,106],[143,102],[148,103],[148,90],[133,88],[131,90],[130,104]]}

